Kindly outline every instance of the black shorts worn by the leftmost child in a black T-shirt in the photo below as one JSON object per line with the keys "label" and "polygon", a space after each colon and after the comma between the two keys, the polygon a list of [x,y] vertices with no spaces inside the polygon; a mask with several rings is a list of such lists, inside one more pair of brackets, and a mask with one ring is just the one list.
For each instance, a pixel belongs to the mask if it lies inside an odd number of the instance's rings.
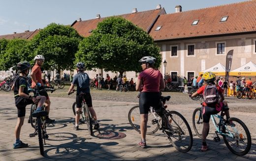
{"label": "black shorts worn by the leftmost child in a black T-shirt", "polygon": [[26,114],[26,106],[33,104],[33,101],[24,97],[15,98],[15,105],[18,109],[18,117],[23,117]]}

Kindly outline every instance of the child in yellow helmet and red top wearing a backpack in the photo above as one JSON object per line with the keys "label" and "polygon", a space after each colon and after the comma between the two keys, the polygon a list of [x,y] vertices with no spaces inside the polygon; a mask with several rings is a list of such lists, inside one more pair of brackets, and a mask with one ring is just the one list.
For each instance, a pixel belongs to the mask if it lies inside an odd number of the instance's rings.
{"label": "child in yellow helmet and red top wearing a backpack", "polygon": [[[224,111],[226,120],[230,118],[229,108],[224,102],[223,89],[216,85],[215,74],[205,72],[202,79],[205,85],[201,86],[195,93],[190,94],[190,97],[196,97],[198,94],[203,94],[204,102],[202,103],[203,111],[203,130],[202,130],[202,147],[201,151],[207,151],[206,137],[209,133],[209,121],[212,114],[217,114]],[[231,122],[229,123],[231,124]]]}

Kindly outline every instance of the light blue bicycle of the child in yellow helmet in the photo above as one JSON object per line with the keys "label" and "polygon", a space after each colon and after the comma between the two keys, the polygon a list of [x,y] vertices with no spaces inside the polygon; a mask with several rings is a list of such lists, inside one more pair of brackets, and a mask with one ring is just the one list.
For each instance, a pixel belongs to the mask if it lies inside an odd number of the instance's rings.
{"label": "light blue bicycle of the child in yellow helmet", "polygon": [[[200,99],[200,102],[202,105],[202,99]],[[221,138],[219,136],[220,134],[223,136],[227,148],[233,154],[236,154],[238,156],[244,156],[250,151],[252,145],[252,138],[247,126],[243,121],[235,117],[230,117],[228,120],[225,120],[223,111],[220,115],[211,115],[211,120],[216,129],[215,134],[217,136],[214,137],[215,142],[221,141]],[[202,107],[194,109],[192,115],[192,123],[195,133],[197,134],[197,136],[202,138]]]}

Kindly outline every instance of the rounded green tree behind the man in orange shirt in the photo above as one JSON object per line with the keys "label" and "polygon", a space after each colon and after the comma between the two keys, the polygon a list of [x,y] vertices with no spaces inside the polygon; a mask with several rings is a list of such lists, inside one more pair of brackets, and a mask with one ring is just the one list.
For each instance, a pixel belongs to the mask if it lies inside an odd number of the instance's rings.
{"label": "rounded green tree behind the man in orange shirt", "polygon": [[75,53],[82,37],[70,27],[50,24],[39,31],[28,45],[30,59],[33,63],[35,55],[45,57],[45,70],[71,70],[74,67]]}

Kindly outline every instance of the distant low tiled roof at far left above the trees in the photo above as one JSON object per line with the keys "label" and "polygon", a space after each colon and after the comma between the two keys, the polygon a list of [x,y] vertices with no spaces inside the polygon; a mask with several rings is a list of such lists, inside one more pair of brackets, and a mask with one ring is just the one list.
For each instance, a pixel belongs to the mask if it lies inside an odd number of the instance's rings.
{"label": "distant low tiled roof at far left above the trees", "polygon": [[13,33],[13,34],[8,34],[8,35],[0,35],[0,39],[32,39],[34,35],[36,35],[39,32],[38,29],[34,31],[25,31],[22,33]]}

